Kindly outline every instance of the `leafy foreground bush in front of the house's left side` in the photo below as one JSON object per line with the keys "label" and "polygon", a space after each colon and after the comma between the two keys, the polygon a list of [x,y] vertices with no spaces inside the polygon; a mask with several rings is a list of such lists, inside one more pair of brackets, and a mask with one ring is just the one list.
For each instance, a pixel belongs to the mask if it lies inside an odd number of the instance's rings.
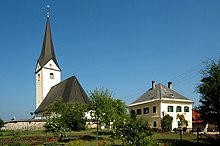
{"label": "leafy foreground bush in front of the house's left side", "polygon": [[116,130],[112,133],[112,136],[120,138],[126,146],[148,145],[148,136],[151,133],[147,130],[147,127],[147,121],[137,119],[134,112],[131,112],[129,118],[116,126]]}

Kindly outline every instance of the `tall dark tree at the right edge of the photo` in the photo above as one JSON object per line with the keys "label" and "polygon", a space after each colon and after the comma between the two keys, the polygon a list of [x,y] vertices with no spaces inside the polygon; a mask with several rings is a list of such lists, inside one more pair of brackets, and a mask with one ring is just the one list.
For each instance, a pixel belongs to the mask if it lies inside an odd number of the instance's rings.
{"label": "tall dark tree at the right edge of the photo", "polygon": [[197,86],[200,93],[201,118],[216,124],[220,131],[220,60],[208,61],[201,71],[202,79]]}

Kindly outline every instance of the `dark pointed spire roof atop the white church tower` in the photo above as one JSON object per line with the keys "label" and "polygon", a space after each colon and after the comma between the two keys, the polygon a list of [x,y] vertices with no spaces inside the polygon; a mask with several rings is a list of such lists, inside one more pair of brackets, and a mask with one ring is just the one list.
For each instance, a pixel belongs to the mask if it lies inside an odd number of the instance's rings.
{"label": "dark pointed spire roof atop the white church tower", "polygon": [[39,63],[41,67],[43,67],[51,59],[55,62],[57,67],[60,69],[56,56],[55,56],[55,52],[54,52],[52,35],[51,35],[51,30],[50,30],[50,19],[49,17],[47,17],[43,46],[42,46],[40,57],[37,62]]}

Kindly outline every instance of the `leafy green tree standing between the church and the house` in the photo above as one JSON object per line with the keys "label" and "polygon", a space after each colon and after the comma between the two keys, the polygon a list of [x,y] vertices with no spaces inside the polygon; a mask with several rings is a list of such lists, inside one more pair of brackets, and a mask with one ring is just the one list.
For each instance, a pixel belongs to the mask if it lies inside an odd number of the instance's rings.
{"label": "leafy green tree standing between the church and the house", "polygon": [[113,98],[112,92],[108,89],[101,88],[90,92],[90,100],[94,111],[92,116],[97,124],[97,138],[99,125],[105,125],[109,129],[112,126],[114,129],[115,125],[127,114],[126,104],[120,99]]}

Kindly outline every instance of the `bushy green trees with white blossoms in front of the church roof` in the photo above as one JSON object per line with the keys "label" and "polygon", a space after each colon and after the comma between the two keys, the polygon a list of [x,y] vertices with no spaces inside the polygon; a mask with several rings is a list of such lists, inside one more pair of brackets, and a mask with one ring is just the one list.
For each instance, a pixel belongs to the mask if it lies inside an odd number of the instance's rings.
{"label": "bushy green trees with white blossoms in front of the church roof", "polygon": [[84,130],[86,124],[85,112],[87,106],[74,103],[66,104],[61,98],[51,104],[46,112],[47,122],[45,124],[46,132],[52,132],[55,135],[69,130]]}

